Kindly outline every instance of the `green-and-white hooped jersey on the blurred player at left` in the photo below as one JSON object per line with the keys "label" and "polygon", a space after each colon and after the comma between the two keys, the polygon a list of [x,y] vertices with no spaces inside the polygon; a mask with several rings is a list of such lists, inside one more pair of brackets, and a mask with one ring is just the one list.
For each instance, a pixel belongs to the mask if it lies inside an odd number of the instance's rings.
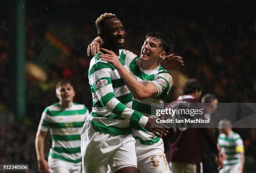
{"label": "green-and-white hooped jersey on the blurred player at left", "polygon": [[72,107],[61,109],[60,103],[46,107],[38,130],[50,129],[52,146],[49,156],[71,163],[82,162],[81,131],[89,116],[87,107],[73,103]]}

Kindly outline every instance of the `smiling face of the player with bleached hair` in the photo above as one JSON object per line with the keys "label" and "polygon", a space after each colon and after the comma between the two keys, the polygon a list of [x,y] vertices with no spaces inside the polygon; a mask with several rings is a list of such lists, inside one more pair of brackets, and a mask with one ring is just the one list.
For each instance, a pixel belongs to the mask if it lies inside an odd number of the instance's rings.
{"label": "smiling face of the player with bleached hair", "polygon": [[118,18],[110,18],[105,20],[105,29],[102,33],[104,42],[117,48],[123,48],[125,44],[125,31],[123,24]]}

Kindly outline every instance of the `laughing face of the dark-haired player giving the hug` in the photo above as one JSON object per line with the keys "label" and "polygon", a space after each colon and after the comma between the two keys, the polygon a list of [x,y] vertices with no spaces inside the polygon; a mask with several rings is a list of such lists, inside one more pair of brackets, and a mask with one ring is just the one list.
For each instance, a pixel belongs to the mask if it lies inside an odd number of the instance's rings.
{"label": "laughing face of the dark-haired player giving the hug", "polygon": [[161,46],[161,41],[154,37],[148,37],[141,48],[141,59],[143,61],[161,61],[166,52]]}

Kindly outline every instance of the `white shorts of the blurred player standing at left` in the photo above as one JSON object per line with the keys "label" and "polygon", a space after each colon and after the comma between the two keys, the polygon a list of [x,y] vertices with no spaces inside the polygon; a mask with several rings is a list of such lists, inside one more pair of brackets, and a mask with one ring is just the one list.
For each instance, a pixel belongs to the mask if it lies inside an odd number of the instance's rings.
{"label": "white shorts of the blurred player standing at left", "polygon": [[81,163],[71,163],[65,160],[52,158],[48,156],[48,165],[50,173],[81,173]]}

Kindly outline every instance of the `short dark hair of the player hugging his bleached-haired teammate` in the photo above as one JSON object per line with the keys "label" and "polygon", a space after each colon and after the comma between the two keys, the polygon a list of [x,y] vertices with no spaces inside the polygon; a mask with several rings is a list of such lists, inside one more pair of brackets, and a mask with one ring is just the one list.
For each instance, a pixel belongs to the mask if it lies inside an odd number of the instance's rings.
{"label": "short dark hair of the player hugging his bleached-haired teammate", "polygon": [[171,39],[169,39],[166,35],[159,32],[150,32],[147,34],[146,39],[148,37],[154,37],[155,41],[160,41],[160,46],[164,49],[166,54],[168,54],[169,51],[172,51],[173,45]]}

